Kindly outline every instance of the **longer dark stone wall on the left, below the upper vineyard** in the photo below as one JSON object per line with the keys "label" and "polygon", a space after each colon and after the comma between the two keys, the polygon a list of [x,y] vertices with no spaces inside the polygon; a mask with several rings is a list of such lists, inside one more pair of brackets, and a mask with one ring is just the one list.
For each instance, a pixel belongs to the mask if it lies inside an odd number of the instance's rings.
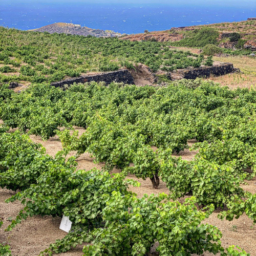
{"label": "longer dark stone wall on the left, below the upper vineyard", "polygon": [[110,84],[111,82],[123,82],[125,84],[134,84],[134,79],[131,73],[126,69],[120,69],[112,72],[98,73],[95,75],[85,75],[85,76],[62,80],[59,82],[53,82],[51,83],[51,86],[64,87],[65,84],[71,85],[74,82],[84,83],[84,82],[91,82],[91,81],[95,81],[95,82],[103,81],[106,83],[106,85]]}

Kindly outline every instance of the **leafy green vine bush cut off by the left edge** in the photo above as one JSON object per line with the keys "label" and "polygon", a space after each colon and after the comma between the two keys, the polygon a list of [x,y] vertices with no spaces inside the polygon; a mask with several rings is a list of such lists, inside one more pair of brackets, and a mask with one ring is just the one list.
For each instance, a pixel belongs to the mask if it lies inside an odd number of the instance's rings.
{"label": "leafy green vine bush cut off by the left edge", "polygon": [[54,161],[45,156],[45,149],[33,143],[29,136],[0,133],[0,187],[24,190],[48,169],[47,162]]}

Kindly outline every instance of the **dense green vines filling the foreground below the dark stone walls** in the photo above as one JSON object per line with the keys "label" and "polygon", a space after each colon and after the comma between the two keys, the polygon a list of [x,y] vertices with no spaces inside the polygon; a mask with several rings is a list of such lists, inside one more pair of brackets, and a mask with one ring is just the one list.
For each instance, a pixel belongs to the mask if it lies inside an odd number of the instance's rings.
{"label": "dense green vines filling the foreground below the dark stone walls", "polygon": [[[161,256],[249,255],[224,246],[221,231],[205,219],[219,210],[220,219],[246,215],[256,223],[256,195],[241,185],[255,176],[254,89],[231,91],[200,79],[162,88],[90,82],[62,90],[41,83],[14,93],[8,86],[0,87],[0,187],[16,191],[6,203],[24,206],[6,231],[33,216],[65,215],[73,223],[41,256],[78,244],[83,255],[144,256],[155,244]],[[74,126],[85,130],[78,135]],[[52,157],[29,135],[57,135],[62,150]],[[196,156],[174,156],[191,139]],[[102,170],[77,169],[85,152]],[[131,175],[150,179],[156,195],[137,197]],[[163,182],[169,192],[157,194]],[[1,250],[11,255],[8,245]]]}

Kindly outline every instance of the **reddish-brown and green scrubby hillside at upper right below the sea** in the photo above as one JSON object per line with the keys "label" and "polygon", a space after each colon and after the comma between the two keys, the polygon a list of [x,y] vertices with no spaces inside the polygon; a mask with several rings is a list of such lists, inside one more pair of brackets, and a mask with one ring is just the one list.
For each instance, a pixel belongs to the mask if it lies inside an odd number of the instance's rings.
{"label": "reddish-brown and green scrubby hillside at upper right below the sea", "polygon": [[[204,46],[202,40],[195,40],[196,34],[201,29],[217,33],[213,43],[222,48],[236,49],[240,48],[256,50],[256,20],[246,20],[243,22],[217,23],[209,25],[170,28],[165,31],[152,31],[143,34],[133,34],[123,36],[122,39],[131,41],[155,40],[171,41],[176,46],[201,47]],[[230,38],[230,35],[238,33],[237,38]],[[191,40],[188,40],[191,38]],[[199,42],[200,41],[200,42]],[[200,45],[198,45],[200,43]],[[209,43],[205,40],[205,44]]]}

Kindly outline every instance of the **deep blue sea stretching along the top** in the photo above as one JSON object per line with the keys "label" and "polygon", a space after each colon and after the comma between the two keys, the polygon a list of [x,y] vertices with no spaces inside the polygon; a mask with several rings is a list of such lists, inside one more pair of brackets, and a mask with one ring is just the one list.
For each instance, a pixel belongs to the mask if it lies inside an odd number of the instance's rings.
{"label": "deep blue sea stretching along the top", "polygon": [[56,22],[120,33],[171,27],[239,22],[256,17],[256,0],[81,1],[0,0],[0,25],[22,30]]}

